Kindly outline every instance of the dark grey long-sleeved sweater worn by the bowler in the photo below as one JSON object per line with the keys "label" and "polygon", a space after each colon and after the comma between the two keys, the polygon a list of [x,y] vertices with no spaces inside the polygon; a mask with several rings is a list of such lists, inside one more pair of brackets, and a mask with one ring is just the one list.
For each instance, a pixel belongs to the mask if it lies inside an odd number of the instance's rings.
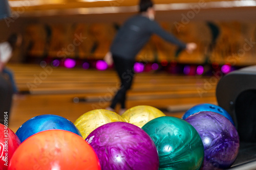
{"label": "dark grey long-sleeved sweater worn by the bowler", "polygon": [[156,34],[180,48],[186,47],[186,44],[163,30],[156,21],[138,14],[128,19],[120,28],[110,51],[113,56],[134,60],[152,34]]}

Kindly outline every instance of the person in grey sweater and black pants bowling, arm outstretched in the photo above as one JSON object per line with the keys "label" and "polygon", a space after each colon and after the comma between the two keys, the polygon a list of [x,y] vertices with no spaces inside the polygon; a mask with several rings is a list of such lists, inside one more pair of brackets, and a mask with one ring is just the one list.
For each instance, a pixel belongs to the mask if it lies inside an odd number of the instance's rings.
{"label": "person in grey sweater and black pants bowling, arm outstretched", "polygon": [[178,40],[174,35],[163,30],[154,19],[153,2],[151,0],[140,0],[139,13],[125,21],[114,38],[110,51],[105,55],[104,60],[106,63],[112,65],[114,62],[120,79],[120,88],[115,94],[111,105],[106,108],[107,110],[115,111],[118,103],[121,105],[120,115],[126,110],[126,93],[131,88],[135,76],[133,66],[136,55],[153,34],[185,49],[188,53],[196,49],[196,43],[184,43]]}

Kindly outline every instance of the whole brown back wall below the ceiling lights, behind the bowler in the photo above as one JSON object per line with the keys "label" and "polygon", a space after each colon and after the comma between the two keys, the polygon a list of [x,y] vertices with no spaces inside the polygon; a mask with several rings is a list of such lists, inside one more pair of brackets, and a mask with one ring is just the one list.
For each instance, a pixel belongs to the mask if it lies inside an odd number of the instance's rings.
{"label": "whole brown back wall below the ceiling lights, behind the bowler", "polygon": [[[247,9],[248,10],[248,9]],[[222,14],[223,13],[223,14]],[[191,20],[186,12],[159,12],[161,27],[183,42],[196,42],[188,54],[156,35],[138,54],[137,61],[175,64],[256,64],[256,18],[253,10],[202,11]],[[221,15],[222,14],[222,15]],[[134,13],[105,15],[20,17],[0,22],[0,41],[15,30],[23,35],[23,45],[11,62],[39,63],[41,60],[72,58],[102,60],[123,22]]]}

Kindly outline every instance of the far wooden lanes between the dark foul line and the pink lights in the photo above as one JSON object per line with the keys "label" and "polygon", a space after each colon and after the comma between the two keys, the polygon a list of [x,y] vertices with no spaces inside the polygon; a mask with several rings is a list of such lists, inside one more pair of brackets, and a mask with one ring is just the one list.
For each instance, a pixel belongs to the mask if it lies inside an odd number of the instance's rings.
{"label": "far wooden lanes between the dark foul line and the pink lights", "polygon": [[[113,70],[42,68],[39,65],[10,65],[18,87],[32,94],[108,93],[119,87]],[[22,68],[20,68],[22,67]],[[217,81],[210,77],[177,76],[167,72],[136,74],[132,92],[183,92],[213,94]]]}

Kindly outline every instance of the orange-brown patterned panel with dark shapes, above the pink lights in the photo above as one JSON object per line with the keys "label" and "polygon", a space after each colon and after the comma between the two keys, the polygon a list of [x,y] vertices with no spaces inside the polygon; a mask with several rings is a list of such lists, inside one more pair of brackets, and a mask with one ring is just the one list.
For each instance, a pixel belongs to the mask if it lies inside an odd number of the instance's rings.
{"label": "orange-brown patterned panel with dark shapes, above the pink lights", "polygon": [[[188,54],[173,44],[153,36],[137,61],[178,63],[256,64],[256,23],[251,22],[160,22],[183,42],[196,42],[197,50]],[[103,59],[121,23],[31,23],[24,31],[24,49],[33,58]]]}

